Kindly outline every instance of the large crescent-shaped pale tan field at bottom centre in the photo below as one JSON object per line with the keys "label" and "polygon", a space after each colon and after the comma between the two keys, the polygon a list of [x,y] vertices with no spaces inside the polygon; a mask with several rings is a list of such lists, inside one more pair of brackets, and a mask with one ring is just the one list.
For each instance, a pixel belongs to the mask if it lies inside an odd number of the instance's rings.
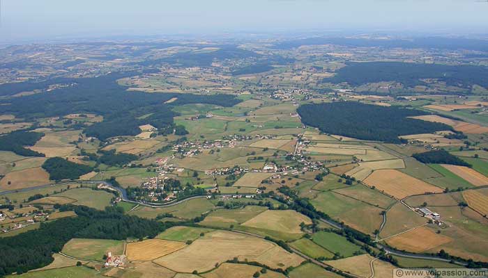
{"label": "large crescent-shaped pale tan field at bottom centre", "polygon": [[155,263],[176,272],[205,272],[237,257],[239,261],[257,261],[271,268],[288,268],[300,265],[304,260],[281,247],[244,234],[230,231],[214,231],[195,240],[190,246],[163,256]]}

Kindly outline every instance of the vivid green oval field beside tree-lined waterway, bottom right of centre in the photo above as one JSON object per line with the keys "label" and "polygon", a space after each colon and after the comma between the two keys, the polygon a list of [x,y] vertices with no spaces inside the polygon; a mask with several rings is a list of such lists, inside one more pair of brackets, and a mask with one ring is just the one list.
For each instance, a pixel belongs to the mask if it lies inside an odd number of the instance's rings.
{"label": "vivid green oval field beside tree-lined waterway, bottom right of centre", "polygon": [[312,235],[312,240],[330,252],[340,253],[342,256],[353,256],[354,253],[362,252],[358,245],[349,242],[344,236],[338,234],[319,231]]}

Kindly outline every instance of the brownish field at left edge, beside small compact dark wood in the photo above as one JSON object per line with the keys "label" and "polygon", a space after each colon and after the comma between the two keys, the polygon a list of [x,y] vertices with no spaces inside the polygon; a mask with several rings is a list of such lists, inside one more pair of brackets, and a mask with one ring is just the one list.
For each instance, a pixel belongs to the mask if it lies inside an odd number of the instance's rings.
{"label": "brownish field at left edge, beside small compact dark wood", "polygon": [[43,168],[35,167],[6,174],[0,180],[0,190],[16,190],[47,183],[49,183],[49,174]]}

